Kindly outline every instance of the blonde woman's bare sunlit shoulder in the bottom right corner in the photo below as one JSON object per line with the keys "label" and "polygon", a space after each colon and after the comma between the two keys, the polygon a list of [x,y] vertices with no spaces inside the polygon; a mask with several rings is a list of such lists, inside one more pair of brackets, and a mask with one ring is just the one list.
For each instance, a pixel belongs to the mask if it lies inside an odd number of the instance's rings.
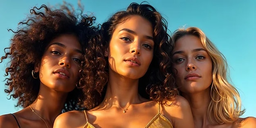
{"label": "blonde woman's bare sunlit shoulder in the bottom right corner", "polygon": [[235,121],[234,123],[237,126],[235,128],[256,128],[255,117],[240,118],[238,119],[238,121]]}

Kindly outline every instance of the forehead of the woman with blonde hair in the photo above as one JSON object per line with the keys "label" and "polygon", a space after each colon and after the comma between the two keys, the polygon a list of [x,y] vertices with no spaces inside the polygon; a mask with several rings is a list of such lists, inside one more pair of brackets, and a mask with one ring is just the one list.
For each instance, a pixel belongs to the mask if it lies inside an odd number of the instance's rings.
{"label": "forehead of the woman with blonde hair", "polygon": [[173,51],[185,51],[198,48],[204,48],[201,40],[197,36],[185,35],[175,42]]}

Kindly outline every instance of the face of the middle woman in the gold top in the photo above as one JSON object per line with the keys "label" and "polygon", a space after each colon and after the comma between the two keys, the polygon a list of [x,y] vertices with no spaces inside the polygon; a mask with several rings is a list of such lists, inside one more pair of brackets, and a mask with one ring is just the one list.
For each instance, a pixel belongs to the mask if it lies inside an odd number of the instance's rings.
{"label": "face of the middle woman in the gold top", "polygon": [[113,31],[107,50],[110,73],[141,78],[153,59],[153,49],[151,23],[141,16],[129,16]]}

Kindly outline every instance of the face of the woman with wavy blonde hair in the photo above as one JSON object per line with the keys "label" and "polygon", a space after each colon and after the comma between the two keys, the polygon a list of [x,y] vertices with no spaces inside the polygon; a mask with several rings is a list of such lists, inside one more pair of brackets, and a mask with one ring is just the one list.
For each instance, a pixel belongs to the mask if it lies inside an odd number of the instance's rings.
{"label": "face of the woman with wavy blonde hair", "polygon": [[186,35],[175,42],[172,52],[175,81],[183,93],[197,93],[212,82],[212,61],[200,39]]}

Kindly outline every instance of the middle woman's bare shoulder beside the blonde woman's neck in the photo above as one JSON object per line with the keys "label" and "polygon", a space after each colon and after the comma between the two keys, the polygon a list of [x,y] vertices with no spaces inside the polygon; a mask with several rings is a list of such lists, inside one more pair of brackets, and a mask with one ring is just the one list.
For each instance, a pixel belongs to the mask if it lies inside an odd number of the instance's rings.
{"label": "middle woman's bare shoulder beside the blonde woman's neck", "polygon": [[172,122],[174,128],[193,128],[191,108],[184,97],[177,95],[173,100],[168,100],[166,105],[162,105],[162,109],[162,113]]}

